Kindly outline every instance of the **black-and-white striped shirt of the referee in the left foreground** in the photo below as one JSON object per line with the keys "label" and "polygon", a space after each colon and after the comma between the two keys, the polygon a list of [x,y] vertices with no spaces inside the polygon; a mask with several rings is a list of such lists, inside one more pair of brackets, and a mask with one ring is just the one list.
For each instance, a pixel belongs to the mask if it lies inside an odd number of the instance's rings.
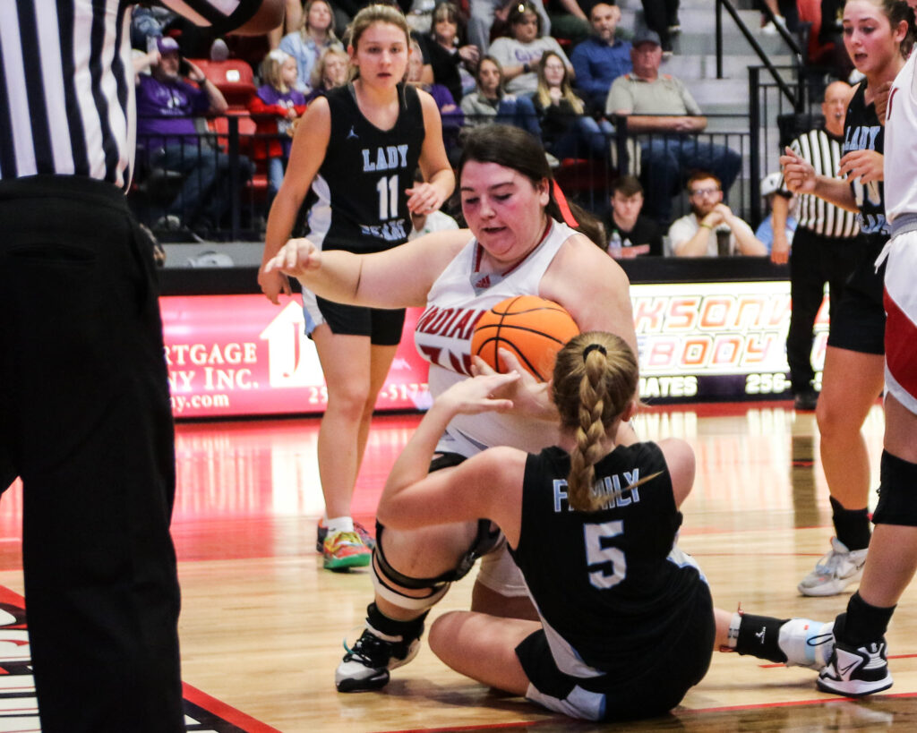
{"label": "black-and-white striped shirt of the referee in the left foreground", "polygon": [[[243,25],[260,0],[162,0],[197,25]],[[0,0],[0,180],[39,173],[127,188],[134,0]]]}

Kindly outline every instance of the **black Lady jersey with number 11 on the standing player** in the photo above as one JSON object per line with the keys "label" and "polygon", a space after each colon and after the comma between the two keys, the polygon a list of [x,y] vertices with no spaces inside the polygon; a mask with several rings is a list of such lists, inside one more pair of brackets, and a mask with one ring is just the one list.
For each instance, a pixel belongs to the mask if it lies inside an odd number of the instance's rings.
{"label": "black Lady jersey with number 11 on the standing player", "polygon": [[399,84],[398,98],[398,120],[383,131],[359,111],[352,84],[326,93],[331,137],[309,209],[309,238],[323,249],[381,252],[411,233],[404,191],[414,185],[424,114],[413,86]]}

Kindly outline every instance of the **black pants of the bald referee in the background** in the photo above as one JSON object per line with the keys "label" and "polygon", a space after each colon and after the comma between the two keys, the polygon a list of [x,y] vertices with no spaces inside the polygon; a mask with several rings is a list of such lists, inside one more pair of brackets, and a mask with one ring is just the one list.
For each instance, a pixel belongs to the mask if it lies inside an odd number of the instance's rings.
{"label": "black pants of the bald referee in the background", "polygon": [[822,307],[824,283],[830,292],[830,309],[836,312],[844,283],[854,271],[857,254],[865,243],[860,236],[834,239],[798,227],[790,250],[790,332],[787,362],[793,394],[812,389],[812,327]]}

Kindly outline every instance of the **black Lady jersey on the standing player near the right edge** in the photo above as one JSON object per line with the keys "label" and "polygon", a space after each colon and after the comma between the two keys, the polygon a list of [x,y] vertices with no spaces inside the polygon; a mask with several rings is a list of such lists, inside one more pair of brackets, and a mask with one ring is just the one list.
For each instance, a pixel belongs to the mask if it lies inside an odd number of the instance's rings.
{"label": "black Lady jersey on the standing player near the right edge", "polygon": [[[885,149],[885,128],[878,124],[876,105],[866,104],[866,82],[860,82],[847,105],[844,121],[844,154],[853,150]],[[872,181],[865,186],[859,181],[850,184],[859,214],[856,223],[866,235],[888,238],[889,226],[885,222],[885,188],[882,181]]]}

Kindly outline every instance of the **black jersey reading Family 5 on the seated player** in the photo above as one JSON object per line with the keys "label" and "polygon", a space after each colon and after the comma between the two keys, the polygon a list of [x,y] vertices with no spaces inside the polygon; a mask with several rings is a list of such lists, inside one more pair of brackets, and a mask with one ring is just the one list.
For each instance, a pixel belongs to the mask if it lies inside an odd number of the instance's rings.
{"label": "black jersey reading Family 5 on the seated player", "polygon": [[[657,474],[614,498],[613,491]],[[569,509],[569,454],[529,455],[522,531],[510,552],[525,575],[562,672],[636,676],[647,653],[686,629],[682,609],[709,595],[691,558],[674,547],[681,525],[665,458],[656,443],[619,445],[595,466],[605,509]],[[613,681],[613,680],[612,680]]]}

